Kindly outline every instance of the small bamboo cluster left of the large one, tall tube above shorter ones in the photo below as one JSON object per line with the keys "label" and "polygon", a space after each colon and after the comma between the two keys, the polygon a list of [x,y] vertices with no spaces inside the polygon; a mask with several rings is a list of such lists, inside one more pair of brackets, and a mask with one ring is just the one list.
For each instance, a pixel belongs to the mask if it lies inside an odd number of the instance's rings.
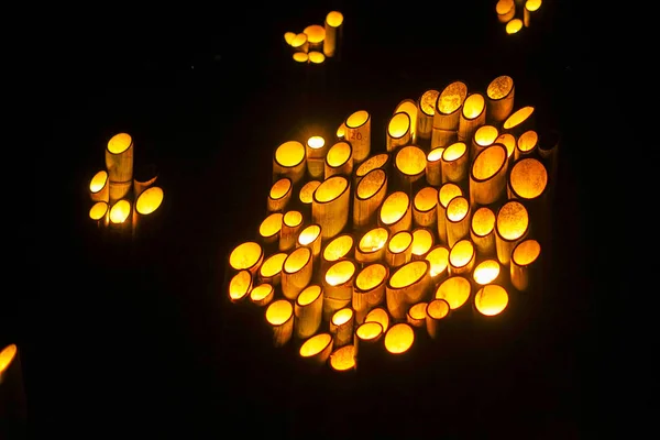
{"label": "small bamboo cluster left of the large one, tall tube above shorter ones", "polygon": [[157,217],[164,193],[156,186],[157,168],[150,164],[135,173],[134,142],[129,133],[114,134],[106,145],[106,168],[88,183],[92,206],[89,218],[99,229],[134,238],[147,221]]}

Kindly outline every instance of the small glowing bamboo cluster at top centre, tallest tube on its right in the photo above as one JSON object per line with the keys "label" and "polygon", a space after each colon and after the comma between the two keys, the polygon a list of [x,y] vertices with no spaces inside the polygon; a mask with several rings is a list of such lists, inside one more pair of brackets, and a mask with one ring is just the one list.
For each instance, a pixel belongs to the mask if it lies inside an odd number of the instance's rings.
{"label": "small glowing bamboo cluster at top centre, tallest tube on its right", "polygon": [[322,64],[340,57],[344,16],[340,11],[326,14],[323,24],[310,24],[301,32],[287,31],[284,41],[292,57],[300,64]]}

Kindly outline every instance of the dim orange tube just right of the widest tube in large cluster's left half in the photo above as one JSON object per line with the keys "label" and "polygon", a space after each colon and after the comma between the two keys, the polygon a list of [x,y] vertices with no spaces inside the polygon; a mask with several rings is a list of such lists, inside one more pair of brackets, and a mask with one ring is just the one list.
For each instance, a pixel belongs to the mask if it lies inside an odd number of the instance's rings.
{"label": "dim orange tube just right of the widest tube in large cluster's left half", "polygon": [[387,174],[382,168],[372,169],[360,180],[353,196],[353,228],[375,226],[386,195]]}

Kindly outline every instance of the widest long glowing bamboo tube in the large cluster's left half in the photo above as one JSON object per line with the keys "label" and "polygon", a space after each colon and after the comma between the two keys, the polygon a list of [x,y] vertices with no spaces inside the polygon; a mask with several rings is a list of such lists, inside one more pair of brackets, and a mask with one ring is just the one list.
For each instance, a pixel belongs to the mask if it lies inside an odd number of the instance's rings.
{"label": "widest long glowing bamboo tube in the large cluster's left half", "polygon": [[322,240],[339,234],[349,220],[351,183],[342,175],[323,180],[314,191],[311,219],[321,227]]}

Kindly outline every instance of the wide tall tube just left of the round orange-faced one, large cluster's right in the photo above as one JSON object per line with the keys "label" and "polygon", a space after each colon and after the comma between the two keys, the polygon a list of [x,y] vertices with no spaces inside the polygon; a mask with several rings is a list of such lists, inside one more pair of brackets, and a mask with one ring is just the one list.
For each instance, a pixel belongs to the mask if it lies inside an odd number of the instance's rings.
{"label": "wide tall tube just left of the round orange-faced one, large cluster's right", "polygon": [[492,205],[506,194],[508,172],[506,147],[486,146],[474,158],[470,168],[470,204]]}

